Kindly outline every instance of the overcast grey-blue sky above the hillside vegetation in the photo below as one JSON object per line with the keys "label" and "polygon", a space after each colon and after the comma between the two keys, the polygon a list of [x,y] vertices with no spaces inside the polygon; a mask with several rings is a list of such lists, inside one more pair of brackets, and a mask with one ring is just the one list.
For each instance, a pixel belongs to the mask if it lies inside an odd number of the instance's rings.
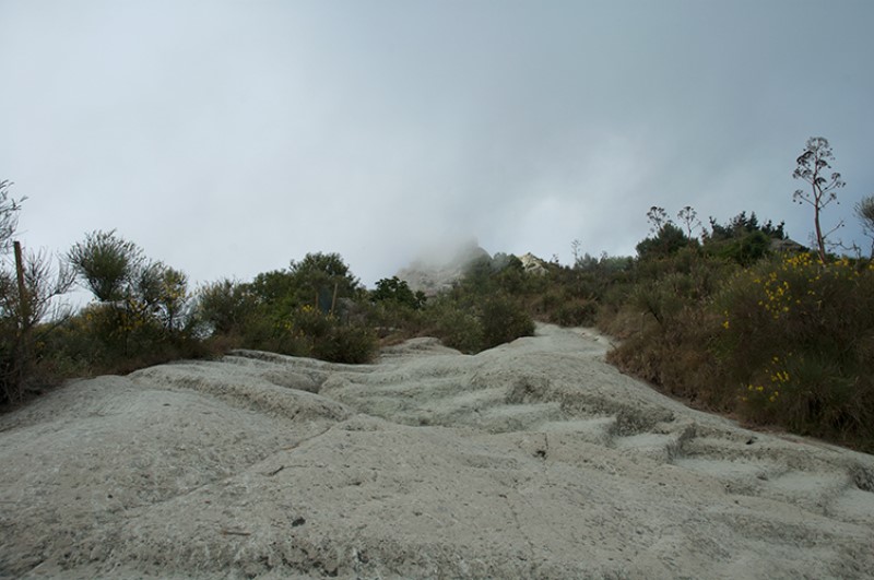
{"label": "overcast grey-blue sky above the hillside vegetation", "polygon": [[[633,255],[647,210],[786,221],[807,138],[874,194],[871,0],[0,0],[21,239],[117,229],[192,282],[425,247]],[[867,246],[866,246],[867,247]]]}

